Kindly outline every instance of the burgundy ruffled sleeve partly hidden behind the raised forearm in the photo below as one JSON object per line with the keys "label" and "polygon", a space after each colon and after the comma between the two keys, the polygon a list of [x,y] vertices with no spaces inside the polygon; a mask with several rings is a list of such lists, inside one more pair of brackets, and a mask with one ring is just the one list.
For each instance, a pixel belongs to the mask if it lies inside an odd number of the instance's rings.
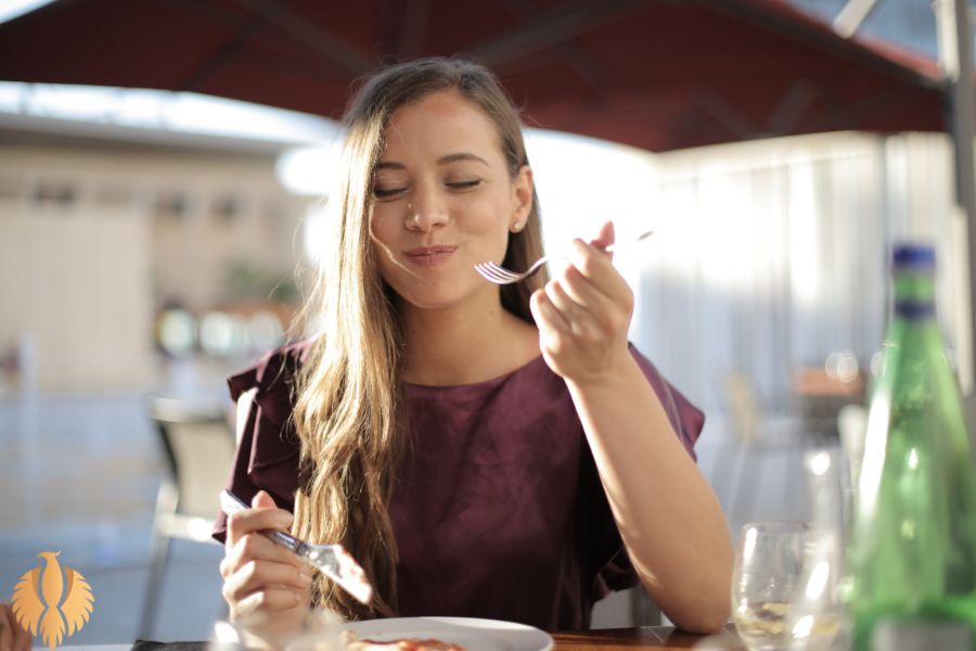
{"label": "burgundy ruffled sleeve partly hidden behind the raised forearm", "polygon": [[[632,345],[630,353],[657,394],[657,399],[660,400],[667,412],[676,435],[684,444],[689,456],[696,459],[694,445],[702,434],[705,414],[692,405],[681,392],[671,386],[654,365]],[[586,457],[588,463],[585,463],[580,472],[581,495],[591,497],[589,500],[583,497],[581,508],[583,522],[589,523],[586,526],[591,532],[589,558],[595,576],[591,597],[594,601],[599,601],[611,591],[626,590],[637,586],[640,577],[630,561],[624,540],[620,538],[617,523],[596,472],[596,464],[589,450],[587,450]]]}

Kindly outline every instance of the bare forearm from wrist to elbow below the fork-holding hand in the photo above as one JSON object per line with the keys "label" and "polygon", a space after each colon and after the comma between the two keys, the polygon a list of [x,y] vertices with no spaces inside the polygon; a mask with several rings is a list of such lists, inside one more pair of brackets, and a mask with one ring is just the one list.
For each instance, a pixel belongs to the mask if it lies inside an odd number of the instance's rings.
{"label": "bare forearm from wrist to elbow below the fork-holding hand", "polygon": [[642,583],[675,624],[714,631],[729,618],[725,520],[637,362],[626,366],[606,382],[567,381],[569,392]]}

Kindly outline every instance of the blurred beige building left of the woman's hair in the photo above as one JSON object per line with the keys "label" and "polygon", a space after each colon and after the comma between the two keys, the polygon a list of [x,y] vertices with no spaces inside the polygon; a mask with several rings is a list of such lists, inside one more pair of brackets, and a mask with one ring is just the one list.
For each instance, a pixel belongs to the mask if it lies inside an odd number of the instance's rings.
{"label": "blurred beige building left of the woman's hair", "polygon": [[7,374],[8,388],[157,385],[159,319],[175,308],[193,330],[174,353],[207,344],[240,358],[273,344],[233,342],[234,323],[221,334],[214,319],[210,341],[201,341],[201,323],[222,311],[241,317],[246,336],[258,311],[288,318],[299,222],[312,201],[277,179],[277,155],[292,143],[150,138],[105,125],[86,132],[84,124],[65,136],[63,126],[0,125],[0,350],[21,369]]}

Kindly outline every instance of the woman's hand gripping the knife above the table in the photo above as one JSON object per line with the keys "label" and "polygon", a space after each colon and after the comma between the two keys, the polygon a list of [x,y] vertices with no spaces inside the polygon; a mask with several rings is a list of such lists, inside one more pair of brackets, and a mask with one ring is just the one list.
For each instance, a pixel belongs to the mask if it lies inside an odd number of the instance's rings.
{"label": "woman's hand gripping the knife above the table", "polygon": [[300,630],[311,605],[312,569],[260,534],[288,531],[292,514],[277,508],[264,490],[251,506],[227,519],[223,598],[232,622],[270,640]]}

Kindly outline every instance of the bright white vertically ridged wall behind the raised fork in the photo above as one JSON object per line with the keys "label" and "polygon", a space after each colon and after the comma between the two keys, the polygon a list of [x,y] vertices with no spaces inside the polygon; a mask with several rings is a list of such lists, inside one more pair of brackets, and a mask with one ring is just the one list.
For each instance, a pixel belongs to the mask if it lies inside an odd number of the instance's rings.
{"label": "bright white vertically ridged wall behind the raised fork", "polygon": [[943,136],[755,141],[656,155],[648,170],[632,217],[656,234],[620,260],[638,298],[631,339],[706,411],[723,409],[732,370],[776,411],[800,367],[850,350],[866,368],[895,241],[936,245],[948,344],[967,339],[965,238]]}

